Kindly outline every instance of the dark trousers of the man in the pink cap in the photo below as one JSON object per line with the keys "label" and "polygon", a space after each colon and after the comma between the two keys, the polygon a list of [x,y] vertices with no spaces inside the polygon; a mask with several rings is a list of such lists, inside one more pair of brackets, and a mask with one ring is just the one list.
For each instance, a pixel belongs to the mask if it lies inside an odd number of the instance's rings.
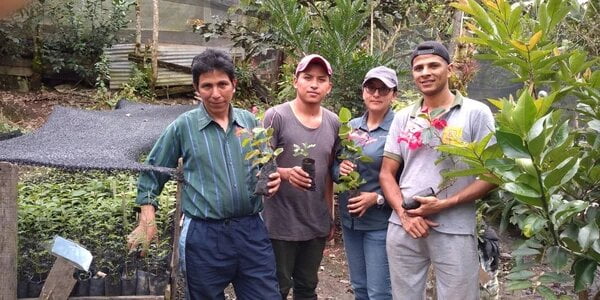
{"label": "dark trousers of the man in the pink cap", "polygon": [[281,299],[294,288],[294,299],[317,299],[319,266],[326,238],[308,241],[271,240],[277,261],[277,279]]}

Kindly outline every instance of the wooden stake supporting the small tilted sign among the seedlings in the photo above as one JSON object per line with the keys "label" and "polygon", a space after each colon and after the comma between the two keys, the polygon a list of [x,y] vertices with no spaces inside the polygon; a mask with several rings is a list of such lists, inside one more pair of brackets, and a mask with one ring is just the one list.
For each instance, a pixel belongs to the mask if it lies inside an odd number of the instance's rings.
{"label": "wooden stake supporting the small tilted sign among the seedlings", "polygon": [[40,300],[63,300],[69,298],[71,290],[77,283],[73,278],[75,268],[64,258],[57,257],[46,283],[40,293]]}

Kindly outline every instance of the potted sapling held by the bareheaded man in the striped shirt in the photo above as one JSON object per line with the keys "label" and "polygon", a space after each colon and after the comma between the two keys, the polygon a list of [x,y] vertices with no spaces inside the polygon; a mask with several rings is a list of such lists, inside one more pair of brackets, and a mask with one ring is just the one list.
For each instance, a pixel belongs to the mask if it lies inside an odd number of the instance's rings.
{"label": "potted sapling held by the bareheaded man in the striped shirt", "polygon": [[[276,158],[283,148],[273,149],[271,138],[273,137],[274,129],[272,127],[255,127],[252,133],[242,141],[242,146],[249,146],[252,150],[246,153],[245,159],[252,160],[252,166],[260,168],[258,181],[254,193],[256,195],[269,195],[269,175],[277,172]],[[240,129],[238,135],[248,134],[245,129]]]}

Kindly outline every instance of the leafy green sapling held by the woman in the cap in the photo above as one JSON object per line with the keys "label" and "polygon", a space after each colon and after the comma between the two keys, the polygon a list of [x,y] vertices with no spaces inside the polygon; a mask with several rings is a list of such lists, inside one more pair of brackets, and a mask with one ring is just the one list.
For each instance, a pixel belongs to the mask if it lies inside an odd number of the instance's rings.
{"label": "leafy green sapling held by the woman in the cap", "polygon": [[[340,138],[341,151],[338,159],[348,160],[357,166],[359,163],[371,163],[373,159],[362,153],[362,147],[373,142],[366,132],[360,129],[353,129],[350,126],[352,114],[350,110],[342,107],[338,114],[340,119],[340,129],[338,137]],[[348,192],[348,199],[360,195],[360,186],[366,181],[360,176],[360,173],[355,169],[349,174],[340,176],[340,182],[337,184],[337,190],[340,193]],[[350,214],[352,217],[357,217],[355,214]]]}

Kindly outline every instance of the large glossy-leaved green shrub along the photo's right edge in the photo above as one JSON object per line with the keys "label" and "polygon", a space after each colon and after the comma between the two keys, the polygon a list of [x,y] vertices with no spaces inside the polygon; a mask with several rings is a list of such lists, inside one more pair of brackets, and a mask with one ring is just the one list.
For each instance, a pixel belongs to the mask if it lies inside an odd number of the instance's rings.
{"label": "large glossy-leaved green shrub along the photo's right edge", "polygon": [[[496,144],[488,147],[483,140],[438,149],[460,157],[471,174],[516,199],[511,220],[527,242],[513,252],[521,263],[508,276],[509,288],[533,288],[556,298],[549,284],[559,281],[560,271],[571,263],[575,291],[582,291],[600,263],[600,70],[592,68],[598,58],[559,48],[549,38],[571,1],[539,1],[532,14],[506,1],[483,3],[453,4],[471,18],[467,26],[474,36],[463,40],[488,50],[480,58],[513,72],[524,88],[516,97],[490,100],[499,109]],[[547,95],[538,94],[542,87],[549,89]],[[575,122],[553,105],[566,96],[578,101]],[[530,256],[546,259],[556,273],[525,271],[524,258]]]}

